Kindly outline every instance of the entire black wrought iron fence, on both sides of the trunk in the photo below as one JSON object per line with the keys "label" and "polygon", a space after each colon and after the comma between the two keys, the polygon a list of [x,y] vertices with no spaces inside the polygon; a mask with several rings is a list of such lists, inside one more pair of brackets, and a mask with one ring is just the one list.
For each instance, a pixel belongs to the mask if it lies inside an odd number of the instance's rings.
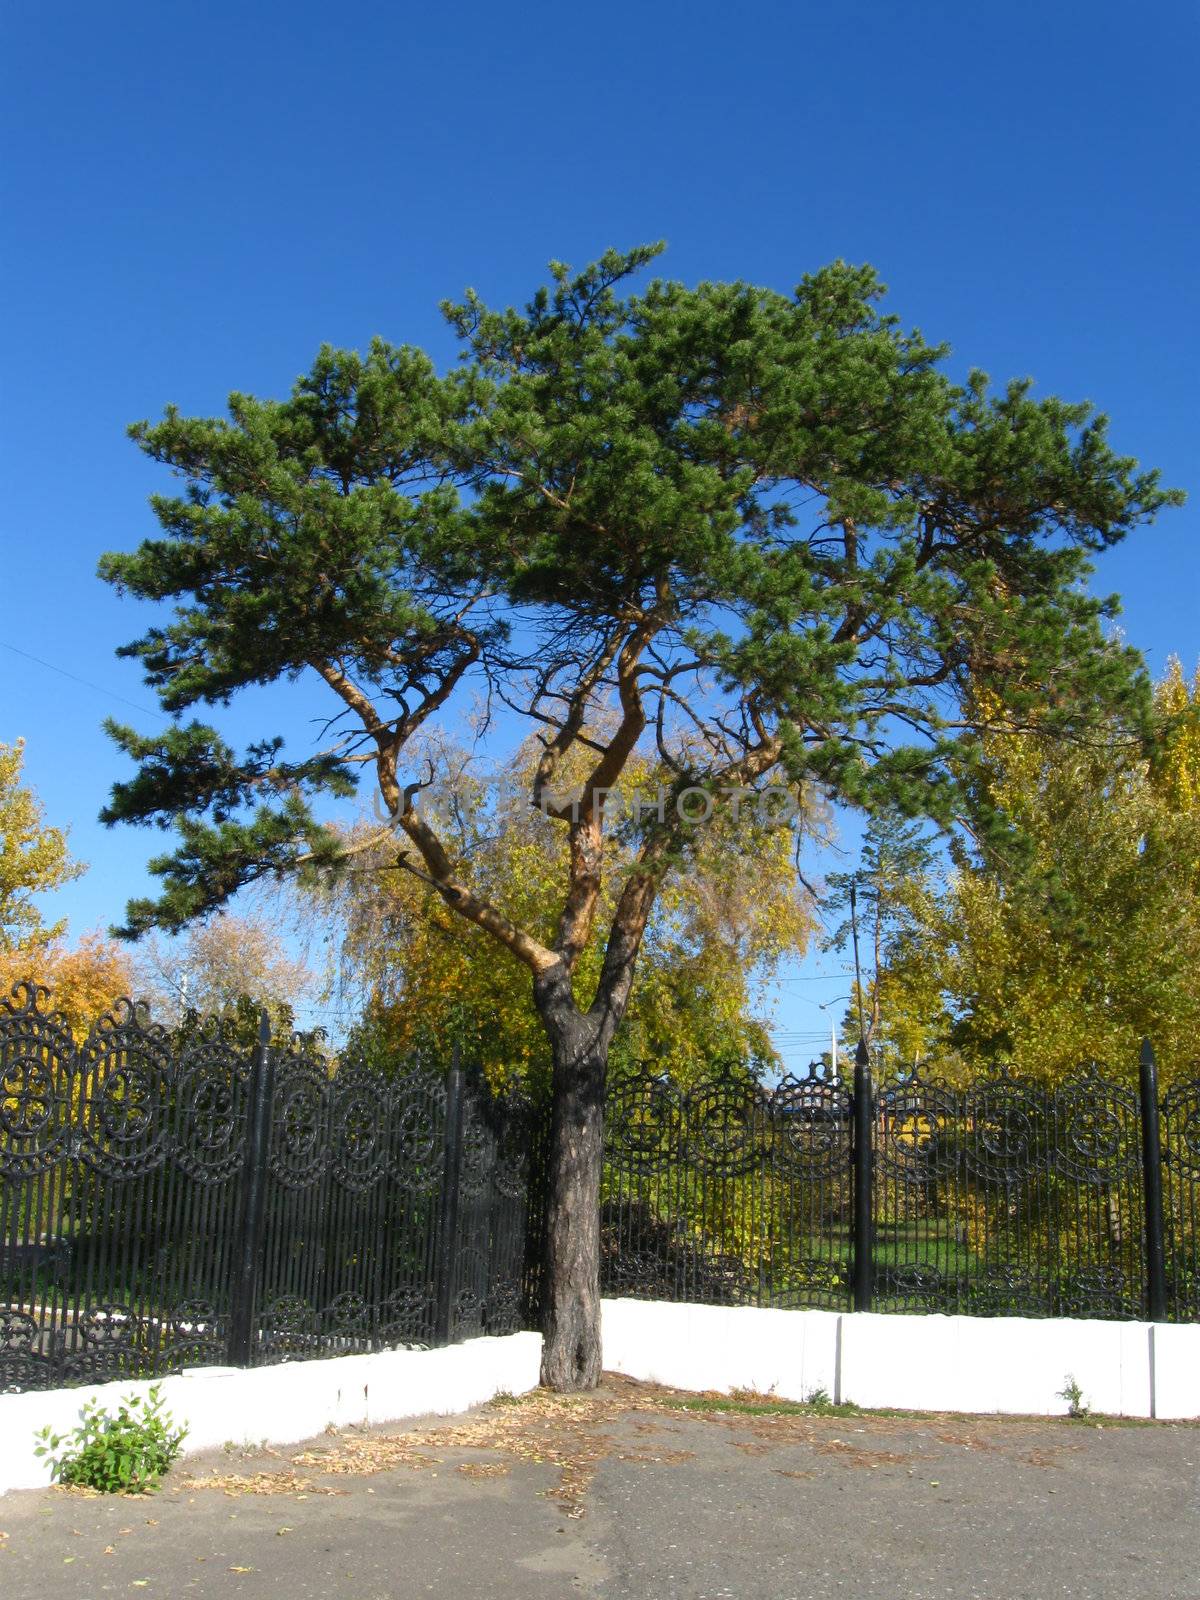
{"label": "entire black wrought iron fence, on both sides of the trunk", "polygon": [[[0,1390],[445,1344],[536,1320],[546,1123],[458,1062],[82,1042],[0,1002]],[[610,1085],[606,1294],[1200,1322],[1200,1082]]]}

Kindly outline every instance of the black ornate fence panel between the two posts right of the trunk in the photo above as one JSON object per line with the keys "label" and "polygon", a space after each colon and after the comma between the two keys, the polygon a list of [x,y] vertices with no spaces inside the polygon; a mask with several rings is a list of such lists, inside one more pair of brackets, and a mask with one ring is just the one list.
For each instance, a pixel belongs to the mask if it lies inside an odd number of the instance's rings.
{"label": "black ornate fence panel between the two posts right of the trunk", "polygon": [[874,1126],[878,1310],[1146,1314],[1134,1091],[1094,1069],[1056,1088],[914,1077]]}

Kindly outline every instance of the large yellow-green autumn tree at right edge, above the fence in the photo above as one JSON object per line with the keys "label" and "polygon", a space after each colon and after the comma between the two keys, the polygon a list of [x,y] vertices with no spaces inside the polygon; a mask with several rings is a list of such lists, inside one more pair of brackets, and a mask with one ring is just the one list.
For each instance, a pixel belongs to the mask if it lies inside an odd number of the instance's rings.
{"label": "large yellow-green autumn tree at right edge, above the fence", "polygon": [[1082,744],[995,731],[974,776],[1019,846],[960,842],[939,894],[888,944],[885,1010],[920,1011],[944,1072],[1005,1061],[1058,1082],[1086,1061],[1136,1078],[1154,1040],[1165,1080],[1200,1037],[1200,789],[1178,662],[1147,749],[1118,726]]}

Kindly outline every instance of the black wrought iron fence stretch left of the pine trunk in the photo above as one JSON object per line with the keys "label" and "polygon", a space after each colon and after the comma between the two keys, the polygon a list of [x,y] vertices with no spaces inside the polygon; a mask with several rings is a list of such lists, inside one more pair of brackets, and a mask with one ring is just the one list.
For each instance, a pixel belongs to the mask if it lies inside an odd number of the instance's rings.
{"label": "black wrought iron fence stretch left of the pine trunk", "polygon": [[523,1320],[528,1112],[123,1002],[0,1003],[0,1390],[445,1344]]}

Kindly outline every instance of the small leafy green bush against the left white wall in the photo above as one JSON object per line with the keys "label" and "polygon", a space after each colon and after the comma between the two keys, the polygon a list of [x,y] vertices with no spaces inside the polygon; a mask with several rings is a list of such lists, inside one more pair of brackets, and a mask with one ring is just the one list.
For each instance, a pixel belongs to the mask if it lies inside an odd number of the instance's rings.
{"label": "small leafy green bush against the left white wall", "polygon": [[[117,1414],[90,1400],[80,1411],[78,1427],[54,1434],[43,1427],[35,1454],[50,1458],[56,1483],[75,1483],[102,1494],[147,1494],[179,1454],[186,1427],[163,1411],[162,1390],[126,1395]],[[66,1446],[66,1448],[64,1448]]]}

